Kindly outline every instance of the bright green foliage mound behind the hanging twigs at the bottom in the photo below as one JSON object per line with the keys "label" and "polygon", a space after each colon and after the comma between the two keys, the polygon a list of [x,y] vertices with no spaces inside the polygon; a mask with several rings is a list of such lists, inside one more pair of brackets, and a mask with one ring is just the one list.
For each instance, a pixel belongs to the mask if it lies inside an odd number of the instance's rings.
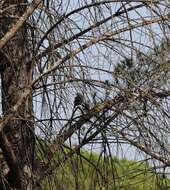
{"label": "bright green foliage mound behind the hanging twigs at the bottom", "polygon": [[[149,164],[116,157],[103,157],[97,153],[81,151],[66,162],[56,155],[60,164],[46,177],[43,189],[50,190],[163,190],[170,180],[155,174]],[[69,154],[66,150],[65,154]],[[60,157],[60,158],[59,158]],[[64,156],[63,156],[64,158]]]}

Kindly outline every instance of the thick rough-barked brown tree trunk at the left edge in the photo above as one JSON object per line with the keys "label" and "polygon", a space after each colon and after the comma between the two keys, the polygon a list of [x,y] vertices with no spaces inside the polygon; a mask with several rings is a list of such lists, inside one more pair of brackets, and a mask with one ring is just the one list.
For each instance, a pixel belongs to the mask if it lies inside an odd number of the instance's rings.
{"label": "thick rough-barked brown tree trunk at the left edge", "polygon": [[[6,0],[3,4],[3,9],[9,9],[0,18],[0,38],[10,29],[11,23],[15,23],[13,16],[21,16],[25,11],[23,3],[26,3],[26,0]],[[25,24],[0,50],[3,115],[12,109],[23,89],[32,80],[32,67],[30,63],[28,64],[31,55],[28,36],[29,28]],[[5,185],[7,189],[32,189],[34,159],[32,113],[32,96],[30,95],[0,133],[0,147],[8,166],[8,172],[6,172],[5,181],[1,183],[0,190],[5,189],[2,187]]]}

